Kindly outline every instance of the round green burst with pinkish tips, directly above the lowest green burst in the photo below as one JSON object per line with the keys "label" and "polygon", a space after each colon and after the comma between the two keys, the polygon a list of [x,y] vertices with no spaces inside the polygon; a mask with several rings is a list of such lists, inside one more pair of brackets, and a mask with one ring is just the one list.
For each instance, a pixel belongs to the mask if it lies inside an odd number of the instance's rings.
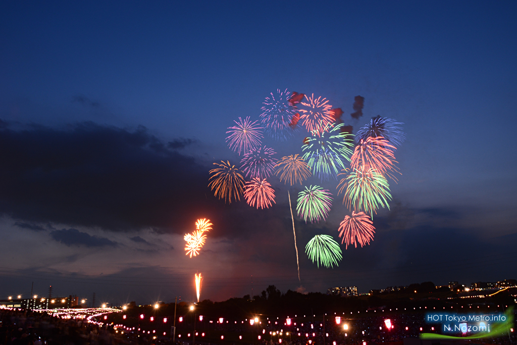
{"label": "round green burst with pinkish tips, directly above the lowest green burst", "polygon": [[332,205],[332,194],[328,190],[324,190],[320,186],[305,187],[305,190],[298,194],[298,204],[296,212],[298,217],[303,218],[305,222],[309,219],[311,222],[325,219]]}

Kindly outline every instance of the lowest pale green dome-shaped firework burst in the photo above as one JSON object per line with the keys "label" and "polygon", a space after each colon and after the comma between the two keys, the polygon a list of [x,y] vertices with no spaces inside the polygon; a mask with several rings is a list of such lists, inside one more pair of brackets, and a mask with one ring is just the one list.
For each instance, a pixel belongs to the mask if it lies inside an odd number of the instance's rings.
{"label": "lowest pale green dome-shaped firework burst", "polygon": [[329,235],[316,235],[305,247],[305,252],[311,261],[320,267],[338,266],[338,261],[342,259],[339,244]]}

